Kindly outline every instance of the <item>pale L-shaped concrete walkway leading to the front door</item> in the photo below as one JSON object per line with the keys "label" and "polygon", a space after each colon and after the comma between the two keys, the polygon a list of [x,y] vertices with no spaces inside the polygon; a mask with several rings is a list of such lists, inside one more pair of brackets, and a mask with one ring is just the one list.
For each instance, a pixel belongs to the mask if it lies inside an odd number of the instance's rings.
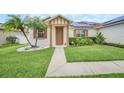
{"label": "pale L-shaped concrete walkway leading to the front door", "polygon": [[46,76],[76,76],[124,72],[124,61],[67,63],[62,47],[54,51]]}

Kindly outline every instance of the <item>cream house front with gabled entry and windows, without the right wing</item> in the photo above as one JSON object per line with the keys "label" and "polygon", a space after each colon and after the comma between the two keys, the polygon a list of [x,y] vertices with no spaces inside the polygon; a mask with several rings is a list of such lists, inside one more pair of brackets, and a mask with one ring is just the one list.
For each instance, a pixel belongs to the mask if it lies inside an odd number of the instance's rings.
{"label": "cream house front with gabled entry and windows, without the right wing", "polygon": [[[48,28],[38,33],[38,42],[43,42],[42,45],[49,47],[69,46],[69,37],[96,36],[95,27],[100,25],[95,22],[72,22],[62,15],[48,17],[44,21],[48,24]],[[30,40],[34,41],[35,31],[29,32]]]}

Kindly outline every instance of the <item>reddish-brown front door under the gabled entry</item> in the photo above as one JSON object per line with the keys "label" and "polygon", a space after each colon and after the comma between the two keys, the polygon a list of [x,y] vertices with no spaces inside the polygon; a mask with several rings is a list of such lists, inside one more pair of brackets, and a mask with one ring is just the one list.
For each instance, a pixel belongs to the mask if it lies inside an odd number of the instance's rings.
{"label": "reddish-brown front door under the gabled entry", "polygon": [[63,45],[63,27],[56,27],[56,45]]}

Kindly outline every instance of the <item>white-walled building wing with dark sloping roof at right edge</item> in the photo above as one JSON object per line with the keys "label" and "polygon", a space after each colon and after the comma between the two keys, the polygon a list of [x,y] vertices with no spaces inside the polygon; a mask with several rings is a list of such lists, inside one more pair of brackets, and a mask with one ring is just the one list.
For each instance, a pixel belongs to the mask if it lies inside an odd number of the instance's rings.
{"label": "white-walled building wing with dark sloping roof at right edge", "polygon": [[99,28],[106,38],[106,42],[124,44],[124,16],[103,23]]}

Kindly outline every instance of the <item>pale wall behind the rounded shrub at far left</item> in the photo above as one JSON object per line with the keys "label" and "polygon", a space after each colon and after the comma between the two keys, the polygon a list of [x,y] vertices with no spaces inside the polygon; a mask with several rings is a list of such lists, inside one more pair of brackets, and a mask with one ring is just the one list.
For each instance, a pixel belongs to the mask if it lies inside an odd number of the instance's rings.
{"label": "pale wall behind the rounded shrub at far left", "polygon": [[[23,33],[21,33],[21,32],[3,32],[3,31],[0,31],[0,44],[7,43],[7,41],[6,41],[7,36],[16,36],[16,37],[18,37],[17,42],[20,43],[20,44],[27,43]],[[27,34],[27,36],[29,37],[29,34]]]}

